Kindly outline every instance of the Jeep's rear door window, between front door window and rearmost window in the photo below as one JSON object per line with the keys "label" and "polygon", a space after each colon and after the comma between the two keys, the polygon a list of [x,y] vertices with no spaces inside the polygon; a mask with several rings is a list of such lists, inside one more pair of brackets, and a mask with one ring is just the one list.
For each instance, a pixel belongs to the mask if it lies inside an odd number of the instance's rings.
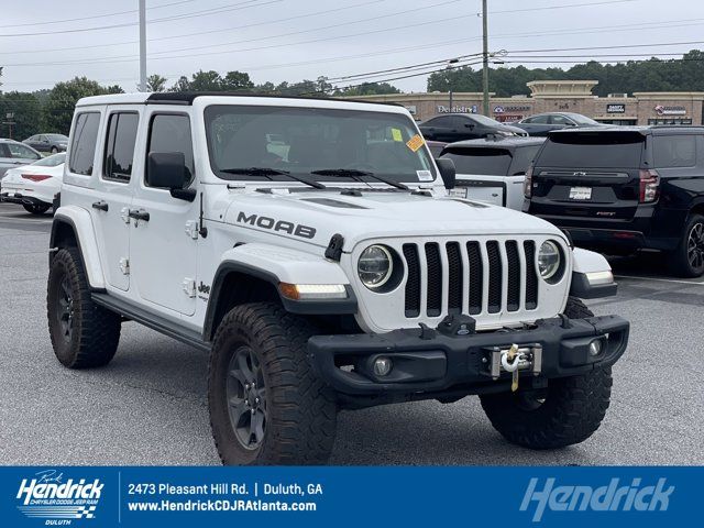
{"label": "Jeep's rear door window, between front door window and rearmost window", "polygon": [[110,116],[102,168],[105,179],[130,182],[139,123],[139,113],[118,112]]}

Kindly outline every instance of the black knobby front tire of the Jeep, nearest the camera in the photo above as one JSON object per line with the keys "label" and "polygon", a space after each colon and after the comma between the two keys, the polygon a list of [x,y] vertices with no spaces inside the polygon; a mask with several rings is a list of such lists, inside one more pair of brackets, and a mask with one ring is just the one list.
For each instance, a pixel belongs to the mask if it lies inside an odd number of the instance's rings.
{"label": "black knobby front tire of the Jeep, nearest the camera", "polygon": [[[306,358],[308,339],[316,328],[275,302],[248,304],[233,308],[222,320],[213,339],[208,374],[208,405],[212,436],[223,464],[310,465],[324,464],[330,457],[337,428],[333,392],[312,372]],[[265,408],[263,435],[245,446],[241,420],[229,402],[240,374],[232,376],[232,361],[248,351],[257,363],[258,380],[265,386],[261,406]],[[258,385],[258,384],[257,384]],[[258,389],[258,387],[257,387]],[[246,393],[251,394],[251,393]],[[244,394],[241,395],[244,398]],[[258,402],[258,399],[257,399]],[[240,409],[240,407],[238,407]],[[246,421],[248,415],[241,415]],[[240,432],[238,432],[240,431]],[[244,428],[246,436],[246,428]],[[256,440],[257,436],[249,437]]]}

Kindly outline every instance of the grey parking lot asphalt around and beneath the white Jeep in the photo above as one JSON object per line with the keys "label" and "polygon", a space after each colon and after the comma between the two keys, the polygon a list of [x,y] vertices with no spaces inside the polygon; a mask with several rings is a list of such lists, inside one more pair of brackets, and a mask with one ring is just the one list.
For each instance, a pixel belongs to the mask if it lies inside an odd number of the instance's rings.
{"label": "grey parking lot asphalt around and beneath the white Jeep", "polygon": [[[52,352],[45,289],[51,217],[0,205],[0,464],[218,464],[207,358],[125,323],[105,369],[68,371]],[[612,405],[587,441],[508,444],[476,397],[340,414],[331,464],[703,464],[704,280],[652,255],[614,261],[617,297],[597,315],[631,321]]]}

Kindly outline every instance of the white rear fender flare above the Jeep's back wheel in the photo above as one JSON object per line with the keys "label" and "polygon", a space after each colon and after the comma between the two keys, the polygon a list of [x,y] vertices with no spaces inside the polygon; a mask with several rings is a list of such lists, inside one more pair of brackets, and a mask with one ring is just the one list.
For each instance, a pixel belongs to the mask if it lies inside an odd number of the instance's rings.
{"label": "white rear fender flare above the Jeep's back wheel", "polygon": [[76,243],[78,244],[78,251],[82,258],[88,284],[92,289],[103,290],[106,288],[106,279],[102,273],[102,265],[100,264],[100,253],[98,252],[96,231],[90,213],[76,206],[59,207],[54,215],[54,222],[52,223],[52,234],[50,238],[50,248],[52,251],[57,249],[56,234],[62,223],[69,226],[76,237]]}

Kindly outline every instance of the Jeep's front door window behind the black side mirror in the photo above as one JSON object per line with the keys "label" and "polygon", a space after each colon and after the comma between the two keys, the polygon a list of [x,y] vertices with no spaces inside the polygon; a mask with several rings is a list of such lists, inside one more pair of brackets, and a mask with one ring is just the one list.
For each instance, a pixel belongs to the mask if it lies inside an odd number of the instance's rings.
{"label": "Jeep's front door window behind the black side mirror", "polygon": [[[194,180],[195,174],[190,118],[172,113],[152,116],[146,152],[147,155],[152,152],[182,152],[186,158],[186,182],[184,182],[184,187],[188,187]],[[148,170],[145,174],[144,183],[147,187],[151,187]]]}

